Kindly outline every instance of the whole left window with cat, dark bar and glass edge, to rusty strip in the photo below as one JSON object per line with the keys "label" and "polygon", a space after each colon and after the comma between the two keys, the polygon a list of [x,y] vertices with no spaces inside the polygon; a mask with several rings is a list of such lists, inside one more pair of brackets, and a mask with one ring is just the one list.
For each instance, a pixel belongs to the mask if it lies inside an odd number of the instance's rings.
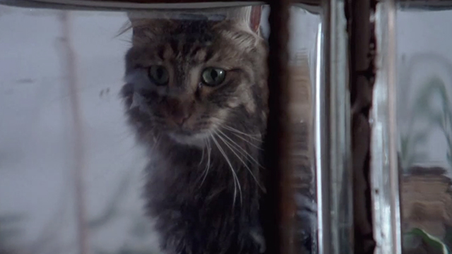
{"label": "whole left window with cat, dark bar and glass edge, to rusty strip", "polygon": [[344,1],[0,4],[0,253],[353,250]]}

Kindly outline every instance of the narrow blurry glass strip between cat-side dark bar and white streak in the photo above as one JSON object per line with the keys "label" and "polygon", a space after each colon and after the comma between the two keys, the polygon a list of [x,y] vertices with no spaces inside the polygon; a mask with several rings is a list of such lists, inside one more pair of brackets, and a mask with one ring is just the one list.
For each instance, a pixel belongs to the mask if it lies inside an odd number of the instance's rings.
{"label": "narrow blurry glass strip between cat-side dark bar and white streak", "polygon": [[[294,121],[293,165],[295,167],[294,253],[318,253],[316,226],[316,185],[312,164],[313,87],[316,70],[317,35],[321,16],[319,13],[292,7],[290,10],[290,89],[292,102],[290,114]],[[304,25],[299,25],[304,24]]]}

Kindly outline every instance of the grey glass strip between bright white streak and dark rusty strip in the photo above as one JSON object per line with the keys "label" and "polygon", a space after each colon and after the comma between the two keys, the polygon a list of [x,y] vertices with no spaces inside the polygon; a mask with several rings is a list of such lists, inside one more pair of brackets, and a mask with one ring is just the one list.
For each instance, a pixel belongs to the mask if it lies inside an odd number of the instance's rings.
{"label": "grey glass strip between bright white streak and dark rusty strip", "polygon": [[353,253],[352,174],[350,169],[350,96],[345,2],[331,1],[330,125],[331,125],[331,253]]}

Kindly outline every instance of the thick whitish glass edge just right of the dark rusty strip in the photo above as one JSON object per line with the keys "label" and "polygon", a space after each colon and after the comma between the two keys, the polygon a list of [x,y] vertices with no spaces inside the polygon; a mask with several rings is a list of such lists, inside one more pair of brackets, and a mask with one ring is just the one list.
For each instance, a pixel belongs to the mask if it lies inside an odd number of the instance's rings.
{"label": "thick whitish glass edge just right of the dark rusty strip", "polygon": [[401,254],[396,128],[396,4],[376,5],[378,45],[371,109],[371,202],[375,254]]}

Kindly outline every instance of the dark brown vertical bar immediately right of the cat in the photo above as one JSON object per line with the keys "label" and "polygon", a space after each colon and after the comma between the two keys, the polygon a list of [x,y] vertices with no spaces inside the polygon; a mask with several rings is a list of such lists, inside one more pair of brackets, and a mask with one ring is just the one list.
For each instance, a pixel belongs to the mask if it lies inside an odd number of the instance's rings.
{"label": "dark brown vertical bar immediately right of the cat", "polygon": [[269,254],[291,254],[291,214],[295,212],[290,178],[291,131],[288,105],[290,90],[288,79],[289,39],[288,17],[290,0],[270,1],[270,37],[268,38],[268,126],[264,143],[266,167],[266,199],[263,203],[263,224]]}

